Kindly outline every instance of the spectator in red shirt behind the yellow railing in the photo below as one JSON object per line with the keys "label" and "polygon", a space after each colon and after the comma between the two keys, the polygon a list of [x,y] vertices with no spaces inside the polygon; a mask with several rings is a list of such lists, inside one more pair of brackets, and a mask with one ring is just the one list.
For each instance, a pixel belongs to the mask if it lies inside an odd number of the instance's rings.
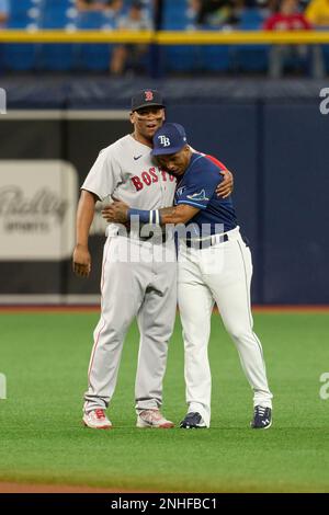
{"label": "spectator in red shirt behind the yellow railing", "polygon": [[[264,23],[265,31],[307,31],[311,25],[298,11],[298,0],[282,0],[277,13],[272,14]],[[270,50],[269,75],[280,78],[287,64],[305,62],[311,59],[311,75],[324,77],[324,58],[318,46],[306,45],[273,45]]]}

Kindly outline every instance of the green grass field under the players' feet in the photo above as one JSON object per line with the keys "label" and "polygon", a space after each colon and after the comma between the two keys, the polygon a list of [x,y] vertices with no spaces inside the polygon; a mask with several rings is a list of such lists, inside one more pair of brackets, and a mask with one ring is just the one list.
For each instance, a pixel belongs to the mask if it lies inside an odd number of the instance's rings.
{"label": "green grass field under the players' feet", "polygon": [[[137,430],[138,334],[126,340],[112,431],[81,426],[82,393],[97,313],[0,313],[0,480],[83,484],[122,491],[328,492],[329,313],[259,313],[274,398],[269,431],[249,428],[251,390],[218,316],[213,317],[211,430]],[[163,412],[185,414],[179,319],[171,340]]]}

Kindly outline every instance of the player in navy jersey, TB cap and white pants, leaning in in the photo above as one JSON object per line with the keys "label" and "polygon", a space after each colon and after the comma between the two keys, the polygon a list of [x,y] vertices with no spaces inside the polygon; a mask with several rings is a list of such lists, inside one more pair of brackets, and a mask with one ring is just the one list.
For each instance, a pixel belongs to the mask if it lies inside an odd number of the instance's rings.
{"label": "player in navy jersey, TB cap and white pants, leaning in", "polygon": [[[211,314],[216,302],[232,337],[246,377],[253,390],[251,427],[272,423],[263,352],[252,330],[250,308],[251,254],[241,238],[231,197],[215,194],[218,170],[225,167],[211,156],[192,152],[184,128],[164,124],[154,137],[152,156],[178,179],[174,206],[151,214],[152,222],[189,226],[179,241],[178,298],[183,327],[188,414],[182,428],[209,427],[211,370],[207,346]],[[115,203],[104,209],[109,221],[125,222],[149,211]]]}

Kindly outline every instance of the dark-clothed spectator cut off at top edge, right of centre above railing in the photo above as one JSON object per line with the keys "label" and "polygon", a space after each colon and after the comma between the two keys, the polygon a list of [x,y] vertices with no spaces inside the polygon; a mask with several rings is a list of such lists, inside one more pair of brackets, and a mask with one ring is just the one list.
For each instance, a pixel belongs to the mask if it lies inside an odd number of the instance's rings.
{"label": "dark-clothed spectator cut off at top edge, right of centre above railing", "polygon": [[196,12],[196,25],[222,27],[239,21],[235,0],[191,0],[190,3]]}

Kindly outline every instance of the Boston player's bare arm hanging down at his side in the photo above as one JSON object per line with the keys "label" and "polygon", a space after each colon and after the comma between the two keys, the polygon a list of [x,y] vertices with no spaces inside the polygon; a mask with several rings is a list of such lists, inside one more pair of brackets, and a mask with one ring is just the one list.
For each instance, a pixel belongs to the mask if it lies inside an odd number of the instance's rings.
{"label": "Boston player's bare arm hanging down at his side", "polygon": [[94,206],[99,198],[82,190],[77,210],[77,243],[73,251],[73,272],[80,277],[88,277],[91,270],[91,256],[88,249],[90,226],[94,216]]}

